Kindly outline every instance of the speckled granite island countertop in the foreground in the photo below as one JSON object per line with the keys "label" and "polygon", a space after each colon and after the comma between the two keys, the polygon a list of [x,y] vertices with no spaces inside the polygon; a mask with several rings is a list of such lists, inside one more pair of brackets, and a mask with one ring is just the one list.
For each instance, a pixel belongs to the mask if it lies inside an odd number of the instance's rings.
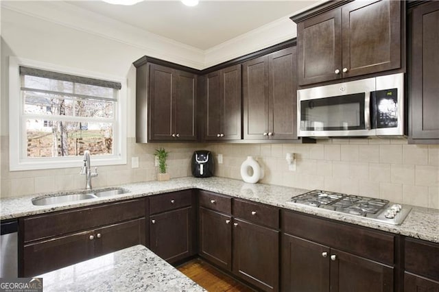
{"label": "speckled granite island countertop in the foreground", "polygon": [[43,275],[43,291],[206,291],[143,245]]}

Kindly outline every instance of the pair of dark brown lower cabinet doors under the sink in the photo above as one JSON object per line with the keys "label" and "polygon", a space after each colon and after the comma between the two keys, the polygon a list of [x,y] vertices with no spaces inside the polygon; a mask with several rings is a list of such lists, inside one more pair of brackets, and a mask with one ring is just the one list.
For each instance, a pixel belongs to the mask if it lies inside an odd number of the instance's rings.
{"label": "pair of dark brown lower cabinet doors under the sink", "polygon": [[82,260],[145,244],[145,219],[27,243],[23,248],[23,277],[32,277]]}

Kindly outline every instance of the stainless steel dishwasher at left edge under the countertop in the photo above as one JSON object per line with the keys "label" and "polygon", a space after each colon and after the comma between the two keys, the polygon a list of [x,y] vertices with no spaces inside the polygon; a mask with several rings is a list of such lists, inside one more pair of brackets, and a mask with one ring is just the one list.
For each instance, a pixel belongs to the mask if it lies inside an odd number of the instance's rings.
{"label": "stainless steel dishwasher at left edge under the countertop", "polygon": [[16,220],[1,221],[0,227],[0,278],[17,278],[19,223]]}

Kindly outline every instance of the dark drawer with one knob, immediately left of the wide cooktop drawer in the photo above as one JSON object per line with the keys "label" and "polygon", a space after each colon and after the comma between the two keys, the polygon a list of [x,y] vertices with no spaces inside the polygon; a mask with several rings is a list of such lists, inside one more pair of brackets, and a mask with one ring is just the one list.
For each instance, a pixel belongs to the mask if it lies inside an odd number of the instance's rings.
{"label": "dark drawer with one knob, immediately left of the wide cooktop drawer", "polygon": [[263,204],[250,203],[241,199],[233,200],[233,215],[270,228],[279,228],[279,209]]}

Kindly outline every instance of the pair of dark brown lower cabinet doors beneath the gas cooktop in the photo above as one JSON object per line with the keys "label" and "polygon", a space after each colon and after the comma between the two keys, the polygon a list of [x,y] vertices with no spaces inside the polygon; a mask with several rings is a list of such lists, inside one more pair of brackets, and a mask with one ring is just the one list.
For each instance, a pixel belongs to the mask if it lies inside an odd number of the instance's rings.
{"label": "pair of dark brown lower cabinet doors beneath the gas cooktop", "polygon": [[282,291],[394,291],[393,267],[296,236],[282,236]]}

